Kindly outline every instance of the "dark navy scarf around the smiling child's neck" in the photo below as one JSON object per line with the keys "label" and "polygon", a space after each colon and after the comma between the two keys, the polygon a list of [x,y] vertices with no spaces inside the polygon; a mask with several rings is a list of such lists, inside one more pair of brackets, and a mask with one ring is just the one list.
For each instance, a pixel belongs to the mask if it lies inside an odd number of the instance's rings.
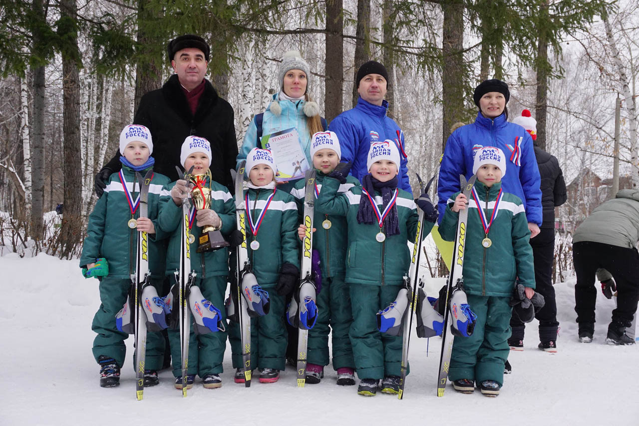
{"label": "dark navy scarf around the smiling child's neck", "polygon": [[[371,194],[373,201],[375,199],[375,190],[381,191],[382,205],[380,212],[383,212],[385,207],[389,205],[390,198],[392,198],[393,193],[397,188],[397,176],[388,182],[380,182],[371,174],[368,174],[362,179],[362,186],[369,194]],[[374,223],[375,225],[379,225],[373,206],[364,193],[362,193],[362,196],[360,197],[360,207],[357,210],[357,223],[366,223],[367,225]],[[390,209],[389,214],[386,216],[386,219],[384,219],[383,225],[386,227],[386,235],[397,235],[399,233],[397,204]]]}

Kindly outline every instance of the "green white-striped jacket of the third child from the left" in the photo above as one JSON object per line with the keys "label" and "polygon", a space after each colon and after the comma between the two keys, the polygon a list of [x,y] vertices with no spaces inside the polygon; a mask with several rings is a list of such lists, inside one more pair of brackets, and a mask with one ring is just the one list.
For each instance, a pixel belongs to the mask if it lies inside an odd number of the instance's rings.
{"label": "green white-striped jacket of the third child from the left", "polygon": [[[247,216],[250,214],[254,221],[266,205],[266,199],[273,193],[273,189],[244,189],[243,194],[249,193],[249,205],[246,206]],[[236,194],[237,196],[237,194]],[[249,218],[246,219],[246,239],[249,243],[249,262],[259,285],[266,287],[275,285],[279,278],[280,269],[284,262],[300,267],[300,251],[297,237],[297,205],[295,198],[289,193],[275,190],[268,210],[262,218],[255,237],[250,230]],[[250,248],[252,241],[259,242],[259,248]]]}

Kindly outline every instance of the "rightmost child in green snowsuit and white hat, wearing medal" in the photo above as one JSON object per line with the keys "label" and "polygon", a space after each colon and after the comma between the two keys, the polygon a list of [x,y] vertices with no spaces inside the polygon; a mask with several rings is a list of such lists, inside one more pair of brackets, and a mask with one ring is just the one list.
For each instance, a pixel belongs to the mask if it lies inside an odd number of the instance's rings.
{"label": "rightmost child in green snowsuit and white hat, wearing medal", "polygon": [[[448,200],[440,224],[445,241],[454,241],[459,210],[466,209],[468,223],[464,248],[464,290],[477,315],[473,334],[456,338],[452,347],[449,379],[455,390],[469,393],[475,387],[497,396],[504,384],[504,364],[511,335],[509,304],[515,280],[534,295],[535,272],[530,230],[521,199],[502,191],[504,152],[484,146],[475,153],[477,180],[470,200],[457,193]],[[481,208],[480,208],[481,207]]]}

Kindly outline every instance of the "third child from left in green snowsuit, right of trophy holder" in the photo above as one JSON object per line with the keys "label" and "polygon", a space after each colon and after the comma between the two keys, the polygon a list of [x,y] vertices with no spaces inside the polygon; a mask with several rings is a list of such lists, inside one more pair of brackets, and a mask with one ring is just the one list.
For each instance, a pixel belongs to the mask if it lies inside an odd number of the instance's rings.
{"label": "third child from left in green snowsuit, right of trophy holder", "polygon": [[[273,383],[286,364],[284,302],[300,282],[297,205],[291,194],[275,189],[275,162],[269,150],[250,150],[245,170],[247,188],[235,196],[244,196],[246,203],[252,272],[270,298],[270,312],[250,319],[250,356],[258,361],[259,381]],[[244,383],[240,327],[236,322],[229,324],[229,341],[235,383]]]}

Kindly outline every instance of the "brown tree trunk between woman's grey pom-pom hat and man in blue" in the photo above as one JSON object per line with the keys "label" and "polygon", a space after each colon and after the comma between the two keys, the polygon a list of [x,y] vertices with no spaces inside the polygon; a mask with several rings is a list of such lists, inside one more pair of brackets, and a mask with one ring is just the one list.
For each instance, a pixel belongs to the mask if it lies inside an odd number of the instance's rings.
{"label": "brown tree trunk between woman's grey pom-pom hat and man in blue", "polygon": [[342,112],[344,82],[343,0],[326,2],[325,117],[330,122]]}

